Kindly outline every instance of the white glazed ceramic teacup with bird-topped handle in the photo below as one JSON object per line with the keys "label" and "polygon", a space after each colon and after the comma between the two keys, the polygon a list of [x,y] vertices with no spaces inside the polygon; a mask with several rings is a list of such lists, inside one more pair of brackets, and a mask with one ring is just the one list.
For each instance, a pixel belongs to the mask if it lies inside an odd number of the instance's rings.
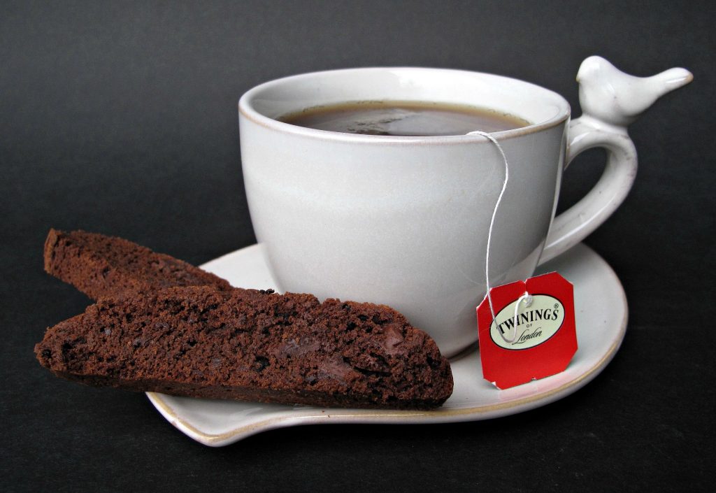
{"label": "white glazed ceramic teacup with bird-topped handle", "polygon": [[[314,72],[246,92],[239,101],[246,196],[279,287],[390,305],[448,356],[474,343],[488,228],[505,176],[498,148],[482,135],[355,135],[277,119],[378,100],[470,105],[531,122],[492,134],[509,163],[490,244],[495,286],[529,277],[621,204],[637,170],[626,125],[691,75],[672,69],[637,78],[591,57],[578,80],[584,115],[571,123],[569,104],[550,90],[459,70]],[[606,148],[604,175],[555,218],[563,169],[593,147]]]}

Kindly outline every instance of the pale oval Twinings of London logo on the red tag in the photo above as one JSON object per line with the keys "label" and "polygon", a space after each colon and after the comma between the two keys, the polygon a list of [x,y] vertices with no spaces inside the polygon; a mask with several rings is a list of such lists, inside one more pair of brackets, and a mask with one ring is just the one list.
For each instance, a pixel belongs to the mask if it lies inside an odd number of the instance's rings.
{"label": "pale oval Twinings of London logo on the red tag", "polygon": [[538,346],[557,333],[564,322],[564,307],[555,297],[532,295],[529,306],[520,302],[515,317],[515,303],[511,302],[495,316],[490,326],[490,338],[500,348],[521,350]]}

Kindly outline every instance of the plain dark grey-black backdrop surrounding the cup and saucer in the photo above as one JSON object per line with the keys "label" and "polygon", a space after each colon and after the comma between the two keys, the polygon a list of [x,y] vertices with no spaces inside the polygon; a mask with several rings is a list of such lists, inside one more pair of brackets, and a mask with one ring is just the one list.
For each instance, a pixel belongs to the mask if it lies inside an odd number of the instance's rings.
{"label": "plain dark grey-black backdrop surrounding the cup and saucer", "polygon": [[[716,481],[715,8],[707,1],[0,2],[0,489],[687,491]],[[42,271],[49,227],[200,264],[256,240],[236,102],[299,72],[417,65],[555,90],[579,63],[690,69],[631,128],[639,175],[586,243],[619,275],[627,336],[593,382],[517,416],[303,426],[223,449],[145,396],[54,378],[32,348],[87,299]],[[601,170],[566,173],[561,207]]]}

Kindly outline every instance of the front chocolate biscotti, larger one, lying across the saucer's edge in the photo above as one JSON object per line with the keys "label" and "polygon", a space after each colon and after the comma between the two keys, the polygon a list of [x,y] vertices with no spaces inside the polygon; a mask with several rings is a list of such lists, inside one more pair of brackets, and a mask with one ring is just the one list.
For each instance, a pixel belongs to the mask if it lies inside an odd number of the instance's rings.
{"label": "front chocolate biscotti, larger one, lying across the saucer's edge", "polygon": [[180,396],[429,409],[453,391],[435,342],[392,308],[271,289],[123,292],[49,328],[35,353],[64,378]]}

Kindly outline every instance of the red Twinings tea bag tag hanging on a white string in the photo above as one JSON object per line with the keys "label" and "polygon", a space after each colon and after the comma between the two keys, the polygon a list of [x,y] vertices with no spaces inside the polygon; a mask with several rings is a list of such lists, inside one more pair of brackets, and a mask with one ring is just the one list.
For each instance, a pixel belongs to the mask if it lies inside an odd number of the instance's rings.
{"label": "red Twinings tea bag tag hanging on a white string", "polygon": [[[577,350],[574,287],[557,272],[490,289],[477,309],[483,375],[508,388],[567,368]],[[494,313],[494,318],[493,318]]]}

